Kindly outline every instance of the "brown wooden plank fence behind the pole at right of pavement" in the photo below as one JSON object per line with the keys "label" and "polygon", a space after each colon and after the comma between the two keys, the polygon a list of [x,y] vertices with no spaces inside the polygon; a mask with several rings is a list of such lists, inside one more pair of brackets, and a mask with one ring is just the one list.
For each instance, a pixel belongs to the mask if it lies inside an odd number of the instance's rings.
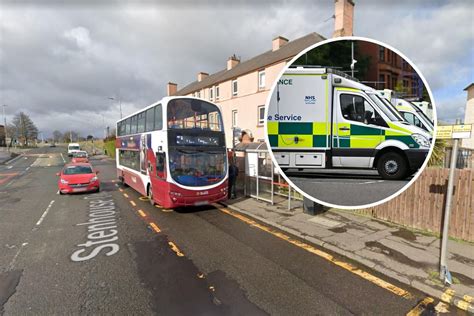
{"label": "brown wooden plank fence behind the pole at right of pavement", "polygon": [[[361,213],[440,234],[449,169],[426,168],[398,197]],[[449,235],[474,241],[474,169],[457,169]]]}

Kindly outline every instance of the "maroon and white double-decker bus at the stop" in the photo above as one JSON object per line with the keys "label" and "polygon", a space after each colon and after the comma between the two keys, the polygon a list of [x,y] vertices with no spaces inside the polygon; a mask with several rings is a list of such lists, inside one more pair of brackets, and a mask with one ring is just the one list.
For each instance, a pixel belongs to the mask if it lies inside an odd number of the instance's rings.
{"label": "maroon and white double-decker bus at the stop", "polygon": [[119,180],[165,208],[227,198],[227,153],[219,107],[166,97],[117,122]]}

